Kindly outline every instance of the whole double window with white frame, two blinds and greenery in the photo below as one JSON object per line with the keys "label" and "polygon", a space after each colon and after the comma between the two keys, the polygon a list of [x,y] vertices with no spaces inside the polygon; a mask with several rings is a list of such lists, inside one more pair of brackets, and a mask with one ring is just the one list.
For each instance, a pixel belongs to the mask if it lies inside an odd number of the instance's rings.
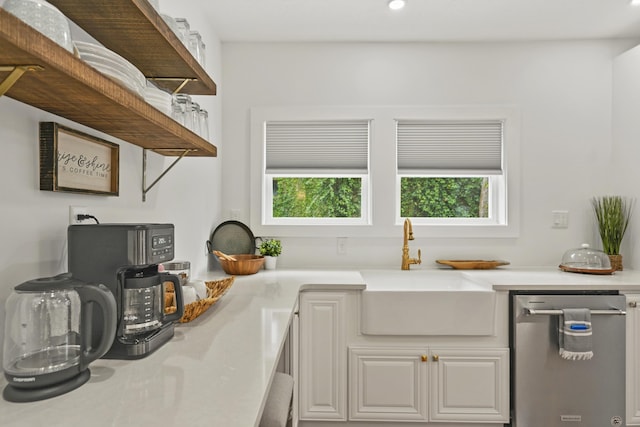
{"label": "whole double window with white frame, two blinds and greenery", "polygon": [[254,107],[250,130],[258,235],[519,234],[512,106]]}

